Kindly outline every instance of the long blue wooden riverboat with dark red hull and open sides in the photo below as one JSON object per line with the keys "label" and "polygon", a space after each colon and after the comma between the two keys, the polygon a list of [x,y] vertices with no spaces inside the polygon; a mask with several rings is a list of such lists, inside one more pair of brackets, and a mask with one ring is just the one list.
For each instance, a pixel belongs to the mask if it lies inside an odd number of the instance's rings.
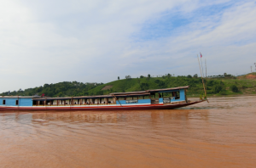
{"label": "long blue wooden riverboat with dark red hull and open sides", "polygon": [[205,101],[189,101],[186,96],[188,88],[189,86],[64,98],[2,96],[0,97],[0,110],[175,109]]}

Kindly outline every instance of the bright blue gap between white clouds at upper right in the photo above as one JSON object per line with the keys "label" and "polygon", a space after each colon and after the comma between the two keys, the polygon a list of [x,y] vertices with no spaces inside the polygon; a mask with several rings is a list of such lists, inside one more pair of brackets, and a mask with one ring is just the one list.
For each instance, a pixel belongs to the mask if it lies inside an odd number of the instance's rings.
{"label": "bright blue gap between white clouds at upper right", "polygon": [[[143,23],[139,32],[134,33],[132,38],[137,42],[156,40],[162,37],[177,36],[179,32],[191,31],[189,26],[195,22],[204,22],[210,19],[217,23],[221,20],[221,15],[224,10],[232,7],[234,1],[228,3],[214,4],[211,6],[202,6],[196,8],[192,12],[183,14],[178,9],[168,10],[159,17],[152,20],[147,20]],[[235,3],[236,5],[236,3]],[[213,17],[214,16],[214,17]],[[206,27],[198,27],[197,29],[204,30]],[[214,29],[214,27],[212,27]]]}

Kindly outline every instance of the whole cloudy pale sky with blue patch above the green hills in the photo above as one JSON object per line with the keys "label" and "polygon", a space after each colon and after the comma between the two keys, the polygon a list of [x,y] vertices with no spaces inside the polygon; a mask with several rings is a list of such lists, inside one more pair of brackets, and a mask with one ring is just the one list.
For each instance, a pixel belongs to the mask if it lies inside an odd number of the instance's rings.
{"label": "whole cloudy pale sky with blue patch above the green hills", "polygon": [[[256,2],[0,0],[0,92],[61,81],[251,72]],[[255,69],[255,68],[253,68]]]}

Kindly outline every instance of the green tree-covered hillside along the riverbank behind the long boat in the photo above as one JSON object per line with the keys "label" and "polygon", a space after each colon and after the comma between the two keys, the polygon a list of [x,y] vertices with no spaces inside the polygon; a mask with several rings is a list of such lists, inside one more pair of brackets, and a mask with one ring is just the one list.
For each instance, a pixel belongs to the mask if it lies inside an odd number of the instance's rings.
{"label": "green tree-covered hillside along the riverbank behind the long boat", "polygon": [[[248,76],[255,76],[249,74]],[[216,77],[205,79],[207,85],[207,95],[230,95],[230,94],[255,94],[256,79],[247,78],[247,76],[234,77]],[[44,84],[41,87],[28,88],[13,92],[3,92],[0,95],[19,95],[19,96],[41,96],[44,94],[49,97],[66,97],[66,96],[88,96],[102,95],[110,92],[133,92],[147,89],[159,89],[167,87],[189,86],[189,96],[203,95],[201,78],[197,76],[161,76],[161,77],[144,77],[131,78],[111,81],[109,83],[83,83],[78,81],[63,81],[55,84]]]}

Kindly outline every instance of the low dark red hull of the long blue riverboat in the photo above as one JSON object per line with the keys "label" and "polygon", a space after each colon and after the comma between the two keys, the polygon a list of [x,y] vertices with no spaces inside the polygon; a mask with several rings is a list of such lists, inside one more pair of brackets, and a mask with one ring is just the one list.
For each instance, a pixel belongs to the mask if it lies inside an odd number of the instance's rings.
{"label": "low dark red hull of the long blue riverboat", "polygon": [[58,110],[58,111],[80,111],[80,110],[137,110],[137,109],[176,109],[192,104],[198,104],[204,101],[195,101],[183,104],[141,104],[141,105],[66,105],[66,106],[0,106],[0,111],[44,111],[44,110]]}

